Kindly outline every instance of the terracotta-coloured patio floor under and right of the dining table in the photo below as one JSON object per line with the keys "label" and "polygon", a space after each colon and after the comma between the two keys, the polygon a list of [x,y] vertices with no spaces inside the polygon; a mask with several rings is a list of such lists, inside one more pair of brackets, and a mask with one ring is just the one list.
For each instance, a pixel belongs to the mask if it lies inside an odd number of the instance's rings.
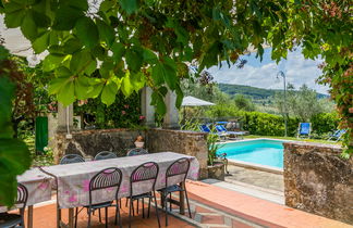
{"label": "terracotta-coloured patio floor under and right of the dining table", "polygon": [[[168,227],[353,227],[337,220],[328,219],[266,200],[249,197],[235,191],[227,190],[199,181],[187,181],[186,188],[191,200],[192,219],[180,215],[174,208],[173,216],[169,216]],[[176,197],[176,195],[175,195]],[[129,225],[129,210],[122,205],[123,227]],[[141,208],[141,207],[139,207]],[[161,225],[165,227],[165,213],[160,212]],[[66,220],[68,211],[63,210],[63,220]],[[104,214],[104,211],[102,211]],[[113,225],[114,210],[109,210],[109,227]],[[51,228],[56,225],[56,205],[53,203],[35,206],[34,228]],[[87,226],[87,216],[82,212],[78,216],[78,226]],[[93,217],[92,227],[105,227],[99,224],[98,213]],[[133,217],[132,227],[158,227],[155,210],[150,218],[142,218],[142,213]]]}

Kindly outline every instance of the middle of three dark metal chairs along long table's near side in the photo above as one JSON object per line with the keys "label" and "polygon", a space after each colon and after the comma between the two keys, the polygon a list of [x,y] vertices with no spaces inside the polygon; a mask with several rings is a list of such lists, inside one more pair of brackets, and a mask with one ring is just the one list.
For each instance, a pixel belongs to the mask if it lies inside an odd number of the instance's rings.
{"label": "middle of three dark metal chairs along long table's near side", "polygon": [[[158,172],[159,172],[159,166],[155,162],[147,162],[142,165],[139,165],[137,168],[135,168],[130,177],[130,206],[129,206],[129,227],[131,227],[131,213],[133,212],[133,203],[135,200],[137,200],[137,205],[138,205],[138,200],[143,200],[145,198],[148,198],[148,215],[149,217],[149,208],[150,208],[150,201],[154,199],[155,201],[155,207],[156,207],[156,216],[158,219],[158,227],[160,227],[160,221],[159,221],[159,215],[158,215],[158,206],[157,206],[157,199],[156,199],[156,192],[155,192],[155,186],[158,177]],[[142,181],[149,181],[149,186],[144,186],[144,192],[137,195],[134,195],[134,186],[135,188],[138,188],[138,183]],[[145,217],[145,208],[144,208],[144,203],[142,204],[143,206],[143,217]],[[138,210],[138,208],[137,208]]]}

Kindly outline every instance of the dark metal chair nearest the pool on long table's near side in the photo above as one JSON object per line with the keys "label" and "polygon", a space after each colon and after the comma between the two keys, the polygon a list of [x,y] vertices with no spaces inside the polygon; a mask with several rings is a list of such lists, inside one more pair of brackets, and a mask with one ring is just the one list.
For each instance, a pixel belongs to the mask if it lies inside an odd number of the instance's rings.
{"label": "dark metal chair nearest the pool on long table's near side", "polygon": [[[190,203],[188,203],[188,198],[187,198],[187,191],[185,187],[185,179],[186,175],[188,173],[190,168],[190,161],[186,157],[179,159],[175,162],[173,162],[166,172],[166,187],[163,189],[158,190],[161,195],[161,203],[162,207],[165,208],[166,212],[166,226],[168,226],[168,207],[167,207],[167,202],[169,201],[169,207],[171,211],[171,204],[172,204],[172,198],[171,194],[173,192],[185,192],[185,198],[186,198],[186,203],[187,203],[187,210],[188,210],[188,216],[192,217],[191,211],[190,211]],[[170,179],[171,178],[178,178],[178,181],[182,185],[170,185]],[[175,179],[174,179],[175,182]],[[168,199],[169,194],[169,199]],[[179,202],[180,203],[180,202]]]}

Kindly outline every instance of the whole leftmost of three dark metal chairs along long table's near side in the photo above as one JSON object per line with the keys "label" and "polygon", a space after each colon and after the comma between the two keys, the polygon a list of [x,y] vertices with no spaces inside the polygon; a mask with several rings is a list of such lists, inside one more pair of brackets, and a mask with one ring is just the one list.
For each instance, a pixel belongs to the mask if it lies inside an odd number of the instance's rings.
{"label": "whole leftmost of three dark metal chairs along long table's near side", "polygon": [[[118,225],[119,219],[119,226],[122,227],[121,224],[121,216],[120,216],[120,207],[119,207],[119,201],[118,201],[118,193],[120,189],[122,180],[122,172],[119,168],[110,167],[105,168],[100,170],[98,174],[96,174],[93,178],[89,180],[89,204],[84,206],[87,208],[88,214],[88,227],[90,227],[90,214],[93,214],[94,211],[105,208],[106,210],[106,227],[108,227],[108,207],[114,206],[115,207],[115,225]],[[117,204],[113,205],[113,201],[102,202],[102,203],[96,203],[93,204],[93,192],[97,190],[108,189],[108,188],[117,188],[115,190],[115,202]],[[75,217],[75,227],[77,226],[77,212]]]}

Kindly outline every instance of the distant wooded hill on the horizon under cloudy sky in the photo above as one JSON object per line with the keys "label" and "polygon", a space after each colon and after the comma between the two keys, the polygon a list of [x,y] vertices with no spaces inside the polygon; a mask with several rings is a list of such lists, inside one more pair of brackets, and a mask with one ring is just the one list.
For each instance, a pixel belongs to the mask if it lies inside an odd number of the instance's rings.
{"label": "distant wooded hill on the horizon under cloudy sky", "polygon": [[[254,100],[269,99],[273,97],[276,92],[282,91],[278,89],[263,89],[263,88],[256,88],[251,86],[231,85],[231,84],[218,84],[218,87],[222,92],[230,94],[231,97],[240,93],[248,98],[252,98]],[[322,98],[328,98],[329,96],[317,93],[317,97],[319,99],[322,99]]]}

